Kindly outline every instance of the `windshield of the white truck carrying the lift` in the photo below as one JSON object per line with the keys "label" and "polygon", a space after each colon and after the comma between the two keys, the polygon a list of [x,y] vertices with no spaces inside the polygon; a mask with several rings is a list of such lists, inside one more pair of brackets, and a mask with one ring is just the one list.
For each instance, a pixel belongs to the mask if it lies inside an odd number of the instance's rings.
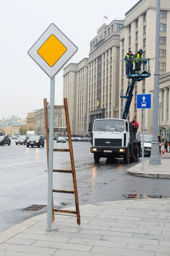
{"label": "windshield of the white truck carrying the lift", "polygon": [[123,120],[96,120],[94,122],[94,131],[124,131],[125,125]]}

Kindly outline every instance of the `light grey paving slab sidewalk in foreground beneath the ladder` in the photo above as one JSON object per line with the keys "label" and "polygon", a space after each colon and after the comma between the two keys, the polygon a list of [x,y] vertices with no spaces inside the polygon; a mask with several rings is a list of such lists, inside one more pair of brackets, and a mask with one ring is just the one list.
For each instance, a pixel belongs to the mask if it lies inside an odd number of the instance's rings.
{"label": "light grey paving slab sidewalk in foreground beneath the ladder", "polygon": [[42,214],[0,233],[0,256],[170,256],[170,199],[80,209],[80,226],[75,216],[56,215],[47,232]]}

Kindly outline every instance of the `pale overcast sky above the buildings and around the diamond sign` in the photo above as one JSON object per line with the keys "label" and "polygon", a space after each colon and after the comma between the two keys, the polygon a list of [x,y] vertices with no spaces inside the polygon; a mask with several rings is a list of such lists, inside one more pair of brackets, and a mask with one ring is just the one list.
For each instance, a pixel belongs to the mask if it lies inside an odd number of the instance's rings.
{"label": "pale overcast sky above the buildings and around the diamond sign", "polygon": [[[0,6],[0,119],[14,114],[26,118],[28,112],[43,108],[50,97],[50,79],[27,54],[54,23],[78,52],[71,62],[88,57],[89,42],[103,24],[124,18],[138,0],[4,0]],[[55,104],[62,104],[62,74],[56,76]]]}

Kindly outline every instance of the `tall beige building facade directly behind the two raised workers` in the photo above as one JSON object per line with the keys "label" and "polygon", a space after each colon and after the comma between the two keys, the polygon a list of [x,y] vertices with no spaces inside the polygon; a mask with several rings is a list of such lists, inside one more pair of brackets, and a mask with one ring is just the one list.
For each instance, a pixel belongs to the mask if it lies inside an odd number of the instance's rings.
{"label": "tall beige building facade directly behind the two raised workers", "polygon": [[[139,0],[125,14],[125,27],[120,35],[120,59],[124,59],[129,49],[133,54],[143,49],[143,58],[155,57],[156,38],[156,0]],[[159,38],[159,72],[160,75],[170,70],[170,1],[161,0],[160,38]],[[150,61],[151,77],[136,82],[133,100],[127,119],[133,117],[139,122],[139,131],[142,131],[142,110],[136,109],[137,93],[150,93],[154,88],[155,61]],[[119,90],[125,95],[130,79],[126,79],[125,64],[120,67]],[[119,99],[119,117],[121,116],[124,99]],[[152,132],[153,109],[145,111],[145,129]]]}

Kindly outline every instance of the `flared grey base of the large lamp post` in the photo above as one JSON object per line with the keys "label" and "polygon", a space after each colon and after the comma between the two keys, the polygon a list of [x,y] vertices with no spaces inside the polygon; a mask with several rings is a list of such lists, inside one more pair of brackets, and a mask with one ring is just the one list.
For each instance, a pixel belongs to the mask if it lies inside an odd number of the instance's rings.
{"label": "flared grey base of the large lamp post", "polygon": [[151,144],[152,144],[152,147],[151,147],[151,154],[149,158],[149,164],[153,164],[153,165],[161,164],[158,139],[153,138]]}

